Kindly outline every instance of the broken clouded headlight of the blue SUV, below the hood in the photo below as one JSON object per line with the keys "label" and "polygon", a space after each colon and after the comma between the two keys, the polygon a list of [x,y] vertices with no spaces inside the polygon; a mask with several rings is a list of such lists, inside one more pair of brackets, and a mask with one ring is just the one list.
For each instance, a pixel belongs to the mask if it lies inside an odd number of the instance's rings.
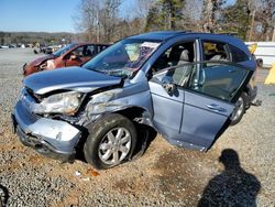
{"label": "broken clouded headlight of the blue SUV, below the hood", "polygon": [[33,111],[35,113],[75,115],[81,103],[81,94],[76,91],[56,94],[35,105]]}

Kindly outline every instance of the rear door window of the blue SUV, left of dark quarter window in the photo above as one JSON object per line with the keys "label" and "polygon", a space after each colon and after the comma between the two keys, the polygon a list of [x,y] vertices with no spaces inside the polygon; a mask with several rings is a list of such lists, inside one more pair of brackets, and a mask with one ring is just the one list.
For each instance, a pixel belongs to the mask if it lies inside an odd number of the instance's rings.
{"label": "rear door window of the blue SUV, left of dark quarter window", "polygon": [[204,61],[230,61],[224,43],[205,41],[202,47]]}

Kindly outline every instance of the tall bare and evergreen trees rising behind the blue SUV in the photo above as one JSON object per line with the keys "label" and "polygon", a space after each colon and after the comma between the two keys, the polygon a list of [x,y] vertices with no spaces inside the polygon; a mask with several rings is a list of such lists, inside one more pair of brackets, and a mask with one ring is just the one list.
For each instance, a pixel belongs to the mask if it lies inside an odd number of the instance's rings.
{"label": "tall bare and evergreen trees rising behind the blue SUV", "polygon": [[81,0],[74,15],[84,39],[114,42],[172,30],[233,33],[244,41],[275,41],[274,0]]}

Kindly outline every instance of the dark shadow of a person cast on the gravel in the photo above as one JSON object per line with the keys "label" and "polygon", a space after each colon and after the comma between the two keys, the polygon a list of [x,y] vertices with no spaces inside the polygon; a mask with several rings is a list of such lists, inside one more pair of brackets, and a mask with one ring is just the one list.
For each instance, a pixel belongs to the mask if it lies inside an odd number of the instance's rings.
{"label": "dark shadow of a person cast on the gravel", "polygon": [[238,153],[232,149],[226,149],[222,151],[219,162],[224,165],[224,170],[209,181],[198,207],[255,207],[261,183],[253,174],[241,167]]}

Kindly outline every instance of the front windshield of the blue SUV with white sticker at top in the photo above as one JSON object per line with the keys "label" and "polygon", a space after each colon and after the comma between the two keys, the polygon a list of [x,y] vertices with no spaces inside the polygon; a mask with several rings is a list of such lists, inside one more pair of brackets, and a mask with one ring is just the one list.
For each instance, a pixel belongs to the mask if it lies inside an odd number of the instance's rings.
{"label": "front windshield of the blue SUV with white sticker at top", "polygon": [[158,47],[160,42],[128,39],[118,42],[82,67],[111,76],[130,77]]}

